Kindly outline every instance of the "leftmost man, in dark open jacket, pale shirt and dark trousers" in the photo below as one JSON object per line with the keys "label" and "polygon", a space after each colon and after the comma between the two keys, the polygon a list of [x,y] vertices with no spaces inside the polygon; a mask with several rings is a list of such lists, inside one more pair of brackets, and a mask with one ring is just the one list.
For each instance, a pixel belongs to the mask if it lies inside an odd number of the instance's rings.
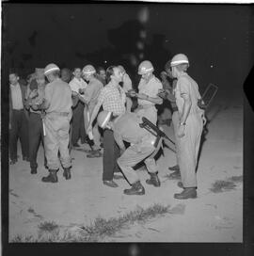
{"label": "leftmost man, in dark open jacket, pale shirt and dark trousers", "polygon": [[17,143],[21,140],[24,161],[29,161],[28,112],[25,110],[26,87],[19,82],[17,72],[9,72],[9,158],[10,165],[18,161]]}

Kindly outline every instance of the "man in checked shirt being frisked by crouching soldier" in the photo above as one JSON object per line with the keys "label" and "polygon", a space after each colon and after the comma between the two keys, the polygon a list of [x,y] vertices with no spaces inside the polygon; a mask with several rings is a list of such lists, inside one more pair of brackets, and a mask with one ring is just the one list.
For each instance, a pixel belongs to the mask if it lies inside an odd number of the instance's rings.
{"label": "man in checked shirt being frisked by crouching soldier", "polygon": [[[100,107],[103,110],[112,112],[114,116],[121,116],[125,113],[126,96],[124,90],[119,86],[122,81],[122,72],[119,67],[111,66],[106,70],[107,85],[102,88],[98,102],[93,108],[90,121],[87,127],[87,134],[92,131],[93,120],[97,117]],[[119,147],[115,142],[113,131],[103,131],[103,184],[117,187],[113,181],[115,171],[119,171],[117,159],[119,158]]]}

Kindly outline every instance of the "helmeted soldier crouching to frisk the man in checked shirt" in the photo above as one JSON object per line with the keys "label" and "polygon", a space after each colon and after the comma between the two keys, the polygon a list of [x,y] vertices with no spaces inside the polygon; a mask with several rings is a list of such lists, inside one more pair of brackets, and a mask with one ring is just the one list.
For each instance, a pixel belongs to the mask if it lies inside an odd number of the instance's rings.
{"label": "helmeted soldier crouching to frisk the man in checked shirt", "polygon": [[[124,189],[123,193],[126,195],[145,194],[145,188],[140,183],[138,174],[133,168],[144,159],[151,176],[146,183],[160,186],[154,155],[160,149],[161,139],[155,148],[156,137],[139,126],[142,123],[141,118],[135,113],[125,113],[119,117],[114,117],[112,112],[102,111],[97,120],[103,129],[114,131],[115,140],[119,145],[121,151],[121,156],[118,159],[119,168],[121,168],[127,182],[132,185],[130,189]],[[131,143],[131,146],[126,149],[123,141]]]}

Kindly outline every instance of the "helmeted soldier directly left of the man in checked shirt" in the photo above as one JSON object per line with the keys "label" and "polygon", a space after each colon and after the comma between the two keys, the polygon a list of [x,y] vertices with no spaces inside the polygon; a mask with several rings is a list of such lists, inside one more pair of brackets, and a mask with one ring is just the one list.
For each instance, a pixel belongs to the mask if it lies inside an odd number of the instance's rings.
{"label": "helmeted soldier directly left of the man in checked shirt", "polygon": [[[96,70],[92,65],[85,66],[82,72],[84,79],[88,82],[88,85],[86,89],[80,89],[80,92],[83,94],[82,96],[79,96],[79,99],[83,103],[87,104],[87,121],[85,123],[87,129],[91,113],[95,105],[97,104],[99,94],[101,92],[101,89],[103,88],[103,83],[95,77]],[[87,157],[89,158],[102,156],[101,152],[99,152],[99,150],[101,149],[101,134],[98,129],[97,121],[95,121],[95,123],[93,123],[92,125],[94,146],[92,147],[92,151],[89,154],[87,154]]]}

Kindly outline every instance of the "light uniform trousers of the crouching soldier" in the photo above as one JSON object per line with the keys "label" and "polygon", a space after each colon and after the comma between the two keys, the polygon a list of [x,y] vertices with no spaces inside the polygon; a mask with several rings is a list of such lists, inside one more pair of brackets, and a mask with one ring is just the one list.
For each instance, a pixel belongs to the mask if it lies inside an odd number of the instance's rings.
{"label": "light uniform trousers of the crouching soldier", "polygon": [[154,152],[158,152],[160,149],[160,143],[155,149],[153,146],[154,140],[154,136],[144,137],[140,143],[131,145],[119,157],[119,168],[121,168],[122,173],[129,184],[135,184],[135,182],[140,180],[133,167],[144,159],[146,159],[144,163],[148,168],[148,171],[151,173],[157,172],[157,165],[153,157],[155,155]]}

